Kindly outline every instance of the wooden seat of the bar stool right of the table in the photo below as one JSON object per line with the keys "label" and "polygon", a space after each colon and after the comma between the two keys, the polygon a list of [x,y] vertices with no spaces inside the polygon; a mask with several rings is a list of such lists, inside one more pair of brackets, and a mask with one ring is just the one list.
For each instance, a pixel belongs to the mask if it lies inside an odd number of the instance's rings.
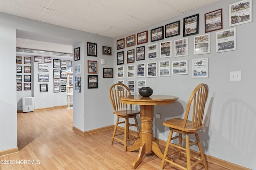
{"label": "wooden seat of the bar stool right of the table", "polygon": [[186,127],[183,128],[183,122],[184,119],[181,118],[174,118],[174,119],[170,119],[167,121],[163,122],[163,125],[166,127],[170,127],[171,129],[173,129],[173,131],[175,131],[175,129],[177,130],[177,132],[180,133],[180,131],[186,132],[186,133],[196,133],[197,131],[200,131],[204,125],[202,124],[202,126],[193,129],[192,128],[192,121],[187,121]]}

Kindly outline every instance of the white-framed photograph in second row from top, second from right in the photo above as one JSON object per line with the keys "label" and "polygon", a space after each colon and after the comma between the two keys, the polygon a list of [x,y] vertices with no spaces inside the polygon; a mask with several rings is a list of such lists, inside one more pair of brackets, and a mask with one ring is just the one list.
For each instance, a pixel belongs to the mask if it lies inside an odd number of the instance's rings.
{"label": "white-framed photograph in second row from top, second from right", "polygon": [[210,53],[210,33],[194,36],[194,55]]}

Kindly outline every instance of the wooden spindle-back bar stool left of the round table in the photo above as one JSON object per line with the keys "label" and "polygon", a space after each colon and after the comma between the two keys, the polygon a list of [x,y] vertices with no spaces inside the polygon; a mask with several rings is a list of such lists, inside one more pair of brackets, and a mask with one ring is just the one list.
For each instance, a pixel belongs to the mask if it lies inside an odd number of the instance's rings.
{"label": "wooden spindle-back bar stool left of the round table", "polygon": [[[113,144],[114,139],[116,139],[119,142],[124,143],[124,152],[126,152],[126,144],[128,141],[131,141],[133,139],[137,139],[140,137],[140,129],[138,125],[138,121],[136,116],[140,114],[139,110],[132,110],[132,105],[129,106],[129,104],[123,104],[119,102],[118,97],[119,96],[128,96],[131,92],[129,88],[121,83],[114,84],[111,86],[109,90],[109,98],[112,103],[114,114],[117,115],[116,125],[114,128],[114,132],[112,135],[111,145]],[[124,121],[120,121],[120,118],[124,118]],[[135,123],[129,123],[129,119],[134,118]],[[120,124],[124,123],[124,127],[119,126]],[[135,126],[137,127],[137,133],[130,133],[129,127]],[[117,133],[117,129],[121,131],[121,133]],[[118,138],[117,136],[124,135],[124,140],[122,138]],[[130,136],[132,136],[130,138]]]}

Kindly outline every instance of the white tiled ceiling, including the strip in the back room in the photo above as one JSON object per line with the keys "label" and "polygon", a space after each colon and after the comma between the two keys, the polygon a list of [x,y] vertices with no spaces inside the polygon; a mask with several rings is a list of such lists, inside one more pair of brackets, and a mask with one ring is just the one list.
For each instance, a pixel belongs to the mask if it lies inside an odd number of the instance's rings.
{"label": "white tiled ceiling, including the strip in the back room", "polygon": [[[215,1],[0,0],[0,12],[114,38]],[[17,47],[22,48],[48,51],[60,48],[61,52],[66,49],[59,46],[17,39]]]}

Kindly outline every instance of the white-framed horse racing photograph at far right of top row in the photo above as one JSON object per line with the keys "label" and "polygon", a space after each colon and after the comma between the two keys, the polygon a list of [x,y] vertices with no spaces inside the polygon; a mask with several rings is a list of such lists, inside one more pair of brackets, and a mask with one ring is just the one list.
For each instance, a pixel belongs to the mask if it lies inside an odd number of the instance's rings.
{"label": "white-framed horse racing photograph at far right of top row", "polygon": [[252,22],[252,0],[242,0],[230,4],[228,12],[230,27]]}

